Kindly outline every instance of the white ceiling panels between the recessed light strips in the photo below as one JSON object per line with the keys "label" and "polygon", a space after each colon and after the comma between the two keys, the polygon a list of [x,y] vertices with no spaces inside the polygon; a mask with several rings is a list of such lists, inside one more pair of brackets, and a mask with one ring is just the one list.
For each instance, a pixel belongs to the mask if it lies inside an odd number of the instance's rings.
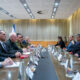
{"label": "white ceiling panels between the recessed light strips", "polygon": [[[55,0],[26,0],[36,19],[50,19]],[[31,19],[19,0],[0,0],[0,7],[8,11],[17,19]],[[80,0],[61,0],[57,10],[56,19],[65,19],[80,8]],[[41,10],[43,14],[37,14]],[[13,19],[0,13],[0,19]]]}

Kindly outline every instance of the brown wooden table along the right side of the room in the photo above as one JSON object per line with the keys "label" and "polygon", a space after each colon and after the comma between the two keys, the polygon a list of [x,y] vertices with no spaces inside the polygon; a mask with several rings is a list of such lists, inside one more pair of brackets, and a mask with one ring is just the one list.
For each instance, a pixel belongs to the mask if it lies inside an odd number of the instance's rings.
{"label": "brown wooden table along the right side of the room", "polygon": [[[67,52],[67,59],[69,59],[69,52]],[[62,53],[62,55],[64,55],[64,53]],[[78,60],[77,57],[75,57],[74,55],[73,56],[73,61],[74,61],[74,70],[80,72],[80,60]],[[50,53],[50,57],[51,57],[51,60],[52,60],[52,63],[54,64],[54,68],[55,68],[55,71],[56,71],[56,74],[57,74],[57,77],[58,77],[58,80],[72,80],[72,78],[69,78],[69,77],[66,77],[66,71],[65,71],[65,68],[64,66],[61,66],[60,65],[60,62],[58,60],[56,60],[53,56],[52,53]]]}

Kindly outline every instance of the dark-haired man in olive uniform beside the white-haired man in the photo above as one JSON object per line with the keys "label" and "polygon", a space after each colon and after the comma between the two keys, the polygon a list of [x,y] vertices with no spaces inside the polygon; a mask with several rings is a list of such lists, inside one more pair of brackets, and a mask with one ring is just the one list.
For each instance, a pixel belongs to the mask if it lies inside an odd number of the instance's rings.
{"label": "dark-haired man in olive uniform beside the white-haired man", "polygon": [[24,39],[23,36],[20,33],[17,33],[17,42],[16,42],[17,46],[19,48],[27,48],[27,43],[24,43]]}

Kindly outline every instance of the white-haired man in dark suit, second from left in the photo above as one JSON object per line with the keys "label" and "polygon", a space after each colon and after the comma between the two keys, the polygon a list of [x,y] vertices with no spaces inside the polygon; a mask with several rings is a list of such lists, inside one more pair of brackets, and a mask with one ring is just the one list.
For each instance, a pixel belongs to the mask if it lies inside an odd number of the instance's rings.
{"label": "white-haired man in dark suit, second from left", "polygon": [[23,51],[22,49],[17,47],[16,38],[17,38],[16,33],[10,33],[9,40],[6,41],[7,50],[12,54],[19,53],[21,55]]}

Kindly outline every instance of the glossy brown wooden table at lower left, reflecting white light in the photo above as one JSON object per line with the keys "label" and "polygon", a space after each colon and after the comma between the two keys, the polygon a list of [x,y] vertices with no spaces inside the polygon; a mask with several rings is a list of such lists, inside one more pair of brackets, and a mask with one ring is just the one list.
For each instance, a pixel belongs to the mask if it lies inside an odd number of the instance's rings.
{"label": "glossy brown wooden table at lower left, reflecting white light", "polygon": [[20,77],[20,73],[19,73],[20,66],[17,68],[1,68],[0,69],[0,80],[28,80],[25,74],[25,69],[26,69],[28,60],[29,58],[24,59],[24,61],[20,60],[19,58],[13,59],[14,62],[22,62],[22,61],[24,62],[22,65],[22,68],[23,68],[22,74],[24,75]]}

